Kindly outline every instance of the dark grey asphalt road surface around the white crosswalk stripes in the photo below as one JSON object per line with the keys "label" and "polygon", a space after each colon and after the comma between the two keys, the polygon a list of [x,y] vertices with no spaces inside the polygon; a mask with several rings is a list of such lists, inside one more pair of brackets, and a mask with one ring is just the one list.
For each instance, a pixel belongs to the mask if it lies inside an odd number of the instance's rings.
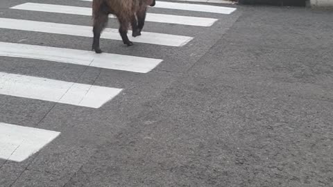
{"label": "dark grey asphalt road surface around the white crosswalk stripes", "polygon": [[[91,5],[4,0],[0,17],[92,24],[10,9],[26,2]],[[0,186],[333,186],[332,11],[223,6],[237,10],[149,10],[218,19],[208,27],[146,22],[147,32],[193,37],[185,46],[101,40],[105,53],[163,60],[147,73],[1,56],[3,75],[123,90],[99,108],[1,94],[0,123],[60,135],[24,161],[0,159]],[[3,26],[0,42],[91,47],[91,37]]]}

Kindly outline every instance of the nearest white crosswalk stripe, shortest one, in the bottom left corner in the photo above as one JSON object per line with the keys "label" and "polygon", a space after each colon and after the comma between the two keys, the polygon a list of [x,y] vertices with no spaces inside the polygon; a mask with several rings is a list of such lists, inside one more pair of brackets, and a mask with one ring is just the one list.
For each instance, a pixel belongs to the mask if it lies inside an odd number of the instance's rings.
{"label": "nearest white crosswalk stripe, shortest one, in the bottom left corner", "polygon": [[24,161],[59,134],[50,130],[0,123],[0,159]]}

